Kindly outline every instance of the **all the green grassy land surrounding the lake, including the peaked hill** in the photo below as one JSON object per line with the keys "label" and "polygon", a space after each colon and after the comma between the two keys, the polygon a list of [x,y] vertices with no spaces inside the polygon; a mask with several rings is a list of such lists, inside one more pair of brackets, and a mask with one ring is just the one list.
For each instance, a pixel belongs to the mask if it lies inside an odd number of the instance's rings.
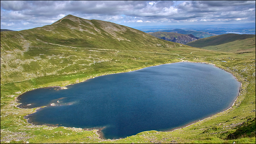
{"label": "all the green grassy land surrounding the lake, including the peaked hill", "polygon": [[[1,32],[0,46],[1,143],[255,143],[255,52],[194,48],[72,15],[40,28]],[[236,76],[242,87],[232,108],[186,128],[104,140],[97,130],[29,124],[24,116],[36,108],[16,107],[15,98],[35,88],[180,61],[208,62]]]}

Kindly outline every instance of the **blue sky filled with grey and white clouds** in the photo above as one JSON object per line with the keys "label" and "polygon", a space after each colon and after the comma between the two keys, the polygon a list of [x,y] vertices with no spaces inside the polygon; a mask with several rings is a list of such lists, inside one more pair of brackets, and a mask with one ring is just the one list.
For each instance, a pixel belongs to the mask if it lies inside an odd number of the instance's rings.
{"label": "blue sky filled with grey and white clouds", "polygon": [[72,14],[124,26],[255,22],[255,0],[1,0],[1,29],[24,30]]}

